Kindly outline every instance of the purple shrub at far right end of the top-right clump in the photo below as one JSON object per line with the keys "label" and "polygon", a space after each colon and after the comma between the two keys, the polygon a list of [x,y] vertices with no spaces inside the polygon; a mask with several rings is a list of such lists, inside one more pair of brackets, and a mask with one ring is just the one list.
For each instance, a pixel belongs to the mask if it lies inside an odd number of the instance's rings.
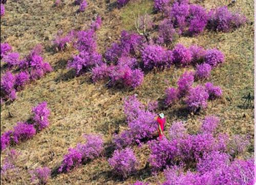
{"label": "purple shrub at far right end of the top-right clump", "polygon": [[226,6],[211,10],[208,13],[207,27],[217,32],[230,32],[245,24],[246,18],[240,13],[232,13]]}

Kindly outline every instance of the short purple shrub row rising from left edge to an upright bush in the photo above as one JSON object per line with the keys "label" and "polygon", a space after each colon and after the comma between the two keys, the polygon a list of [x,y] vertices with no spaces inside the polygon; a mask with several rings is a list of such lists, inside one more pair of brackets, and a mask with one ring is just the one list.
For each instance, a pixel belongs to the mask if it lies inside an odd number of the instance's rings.
{"label": "short purple shrub row rising from left edge to an upright bush", "polygon": [[10,145],[31,139],[36,134],[36,130],[40,131],[49,125],[48,117],[50,110],[47,108],[47,102],[41,102],[36,107],[32,108],[32,113],[32,124],[17,122],[13,130],[5,131],[5,133],[2,134],[1,150],[4,150]]}

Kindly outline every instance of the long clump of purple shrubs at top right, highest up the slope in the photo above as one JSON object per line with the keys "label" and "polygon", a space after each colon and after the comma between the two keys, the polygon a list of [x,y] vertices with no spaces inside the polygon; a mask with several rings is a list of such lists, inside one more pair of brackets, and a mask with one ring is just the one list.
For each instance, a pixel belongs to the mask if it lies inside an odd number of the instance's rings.
{"label": "long clump of purple shrubs at top right, highest up the slope", "polygon": [[[156,2],[163,3],[165,0],[155,1],[155,5]],[[225,6],[207,13],[200,5],[189,4],[188,1],[176,1],[172,7],[160,6],[157,9],[165,11],[174,28],[179,29],[179,34],[187,33],[190,36],[199,35],[206,27],[213,31],[230,32],[246,22],[244,15],[232,13]]]}

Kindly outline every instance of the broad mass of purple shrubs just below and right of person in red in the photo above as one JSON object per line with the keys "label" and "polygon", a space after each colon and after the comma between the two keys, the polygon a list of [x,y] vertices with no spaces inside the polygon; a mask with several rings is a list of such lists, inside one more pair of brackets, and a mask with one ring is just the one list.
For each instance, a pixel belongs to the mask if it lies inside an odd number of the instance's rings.
{"label": "broad mass of purple shrubs just below and right of person in red", "polygon": [[[220,120],[215,116],[207,116],[202,122],[197,135],[189,135],[182,122],[174,122],[169,129],[169,138],[149,142],[151,154],[148,159],[154,170],[160,170],[167,166],[184,164],[187,167],[196,165],[197,170],[205,172],[207,169],[215,169],[218,164],[206,165],[203,163],[204,155],[224,153],[231,160],[234,150],[243,152],[248,141],[238,142],[233,145],[234,137],[226,134],[217,134],[216,128]],[[237,139],[236,139],[237,141]],[[245,144],[244,144],[245,143]],[[206,160],[207,161],[207,160]],[[205,171],[204,171],[205,170]]]}

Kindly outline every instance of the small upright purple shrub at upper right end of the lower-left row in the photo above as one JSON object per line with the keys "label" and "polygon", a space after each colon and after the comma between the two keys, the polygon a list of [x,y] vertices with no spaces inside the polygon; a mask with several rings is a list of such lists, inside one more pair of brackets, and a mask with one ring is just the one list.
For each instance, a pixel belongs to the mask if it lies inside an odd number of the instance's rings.
{"label": "small upright purple shrub at upper right end of the lower-left row", "polygon": [[50,115],[50,110],[47,108],[47,102],[43,101],[32,108],[34,126],[38,130],[42,130],[49,126],[48,117]]}

